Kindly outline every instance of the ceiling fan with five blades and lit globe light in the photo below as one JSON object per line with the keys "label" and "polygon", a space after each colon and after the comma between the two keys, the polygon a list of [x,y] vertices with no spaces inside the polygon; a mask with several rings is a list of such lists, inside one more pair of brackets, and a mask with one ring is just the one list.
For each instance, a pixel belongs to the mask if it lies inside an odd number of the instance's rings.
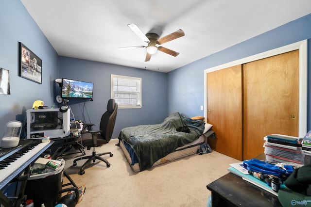
{"label": "ceiling fan with five blades and lit globe light", "polygon": [[179,54],[179,52],[175,52],[171,49],[164,48],[162,46],[157,46],[157,45],[161,45],[163,43],[166,43],[166,42],[169,42],[169,41],[172,41],[174,39],[184,36],[185,33],[181,29],[173,33],[170,33],[164,37],[159,38],[159,35],[153,32],[144,34],[143,32],[141,32],[141,30],[138,28],[136,24],[128,24],[127,26],[129,26],[129,28],[131,28],[131,30],[135,32],[139,36],[139,38],[142,39],[144,42],[146,42],[148,45],[125,47],[125,48],[118,48],[118,49],[146,48],[147,55],[145,58],[145,62],[150,61],[151,55],[155,54],[157,50],[161,52],[165,52],[174,57],[176,57]]}

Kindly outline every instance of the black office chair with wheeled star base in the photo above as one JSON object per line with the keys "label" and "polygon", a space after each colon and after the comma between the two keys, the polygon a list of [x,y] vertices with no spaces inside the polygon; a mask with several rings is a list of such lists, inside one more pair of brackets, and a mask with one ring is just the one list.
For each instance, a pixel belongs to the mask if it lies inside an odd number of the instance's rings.
{"label": "black office chair with wheeled star base", "polygon": [[88,150],[91,147],[93,147],[93,153],[91,156],[85,156],[85,157],[73,160],[73,166],[76,166],[78,160],[87,159],[87,161],[82,165],[80,169],[80,172],[79,172],[80,175],[85,174],[84,169],[89,163],[91,163],[92,160],[93,162],[95,162],[96,159],[100,159],[106,163],[107,167],[110,167],[110,163],[108,162],[108,160],[100,156],[109,154],[110,157],[112,157],[112,153],[105,152],[105,153],[96,154],[95,147],[102,146],[103,144],[106,144],[110,141],[113,128],[116,122],[117,111],[118,111],[118,104],[115,102],[115,99],[109,99],[108,104],[107,104],[107,111],[104,112],[102,119],[101,119],[101,123],[99,127],[100,130],[90,130],[94,124],[86,124],[89,131],[81,134],[82,145],[86,146],[86,149]]}

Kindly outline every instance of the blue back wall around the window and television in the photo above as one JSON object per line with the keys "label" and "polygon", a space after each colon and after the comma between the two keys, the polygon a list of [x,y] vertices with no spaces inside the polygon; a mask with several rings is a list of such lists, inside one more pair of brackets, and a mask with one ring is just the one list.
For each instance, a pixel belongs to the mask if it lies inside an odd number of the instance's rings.
{"label": "blue back wall around the window and television", "polygon": [[[159,124],[167,116],[167,75],[165,73],[68,57],[60,57],[59,60],[60,78],[94,83],[93,101],[69,100],[75,119],[94,123],[99,127],[101,116],[106,111],[107,101],[110,99],[111,74],[138,77],[142,82],[142,108],[118,109],[112,138],[117,138],[124,127]],[[95,126],[93,129],[98,128]]]}

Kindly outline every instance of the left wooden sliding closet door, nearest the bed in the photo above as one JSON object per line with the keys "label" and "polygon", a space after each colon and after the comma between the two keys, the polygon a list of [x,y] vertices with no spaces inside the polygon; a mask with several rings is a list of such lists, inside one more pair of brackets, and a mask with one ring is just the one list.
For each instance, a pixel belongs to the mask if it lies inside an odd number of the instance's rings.
{"label": "left wooden sliding closet door, nearest the bed", "polygon": [[211,148],[241,160],[242,65],[207,73],[207,122],[216,134]]}

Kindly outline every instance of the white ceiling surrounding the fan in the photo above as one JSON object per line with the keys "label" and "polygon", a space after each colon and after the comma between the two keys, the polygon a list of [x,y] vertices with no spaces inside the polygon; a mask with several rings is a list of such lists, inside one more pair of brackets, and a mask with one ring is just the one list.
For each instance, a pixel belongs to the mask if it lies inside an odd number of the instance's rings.
{"label": "white ceiling surrounding the fan", "polygon": [[[311,14],[311,0],[21,0],[58,55],[169,72]],[[127,24],[160,37],[185,36],[144,62],[146,46]],[[162,31],[162,33],[160,33]]]}

